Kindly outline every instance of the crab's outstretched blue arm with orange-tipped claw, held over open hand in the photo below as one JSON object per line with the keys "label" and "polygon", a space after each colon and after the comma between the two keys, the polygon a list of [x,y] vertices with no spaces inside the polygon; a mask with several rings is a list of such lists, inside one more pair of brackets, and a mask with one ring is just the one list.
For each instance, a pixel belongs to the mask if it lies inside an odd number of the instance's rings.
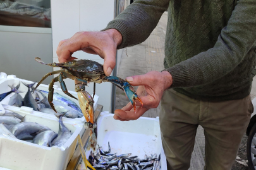
{"label": "crab's outstretched blue arm with orange-tipped claw, held over open hand", "polygon": [[126,96],[130,100],[131,104],[133,105],[133,110],[136,113],[136,103],[135,100],[137,99],[143,106],[142,99],[138,96],[135,92],[133,87],[130,85],[129,82],[115,76],[104,77],[103,81],[111,82],[114,85],[118,86],[119,88],[125,91]]}

